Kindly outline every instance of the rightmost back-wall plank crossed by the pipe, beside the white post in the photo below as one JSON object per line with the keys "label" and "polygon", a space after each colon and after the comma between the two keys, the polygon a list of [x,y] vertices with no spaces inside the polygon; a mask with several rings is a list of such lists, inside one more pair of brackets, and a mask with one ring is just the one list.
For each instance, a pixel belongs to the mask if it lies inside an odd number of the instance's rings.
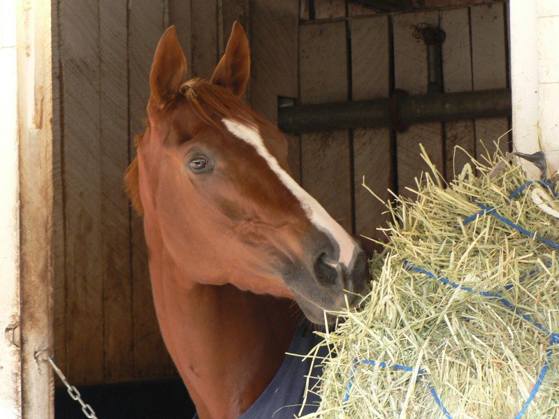
{"label": "rightmost back-wall plank crossed by the pipe, beside the white post", "polygon": [[[474,90],[507,87],[503,4],[472,6],[471,25]],[[508,131],[509,122],[507,118],[477,119],[475,128],[476,156],[480,159],[486,154],[481,141],[493,154],[493,142]],[[509,135],[501,139],[499,148],[502,152],[508,151]]]}

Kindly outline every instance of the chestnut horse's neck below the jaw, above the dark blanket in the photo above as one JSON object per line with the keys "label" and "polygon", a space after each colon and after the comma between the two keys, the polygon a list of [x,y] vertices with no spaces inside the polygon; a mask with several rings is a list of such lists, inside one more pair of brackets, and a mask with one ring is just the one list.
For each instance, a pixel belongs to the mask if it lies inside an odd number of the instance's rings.
{"label": "chestnut horse's neck below the jaw, above the dark blanket", "polygon": [[161,334],[198,415],[237,418],[282,364],[298,309],[289,300],[231,285],[189,281],[170,260],[164,243],[159,238],[150,243],[149,236]]}

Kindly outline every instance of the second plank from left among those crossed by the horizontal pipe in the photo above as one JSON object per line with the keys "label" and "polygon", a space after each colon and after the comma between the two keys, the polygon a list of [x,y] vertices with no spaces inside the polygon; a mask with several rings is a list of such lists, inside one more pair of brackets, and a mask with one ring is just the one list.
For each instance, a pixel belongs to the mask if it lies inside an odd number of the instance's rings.
{"label": "second plank from left among those crossed by the horizontal pipe", "polygon": [[[351,90],[354,100],[386,98],[390,94],[389,17],[352,20]],[[377,196],[389,199],[387,189],[393,187],[391,130],[389,128],[354,129],[354,196],[355,233],[382,239],[376,228],[388,221],[382,212],[386,207],[363,186],[365,183]]]}

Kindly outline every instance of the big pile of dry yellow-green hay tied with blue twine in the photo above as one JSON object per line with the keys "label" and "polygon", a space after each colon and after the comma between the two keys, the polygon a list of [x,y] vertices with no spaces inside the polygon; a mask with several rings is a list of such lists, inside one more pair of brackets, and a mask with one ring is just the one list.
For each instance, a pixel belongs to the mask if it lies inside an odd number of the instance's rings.
{"label": "big pile of dry yellow-green hay tied with blue twine", "polygon": [[331,355],[310,389],[322,402],[305,418],[514,418],[546,363],[523,418],[559,418],[559,344],[550,344],[559,261],[541,241],[559,243],[559,219],[531,193],[551,196],[552,210],[557,200],[503,159],[491,177],[497,162],[488,160],[476,163],[477,177],[467,166],[447,188],[428,163],[433,173],[416,182],[415,199],[389,205],[389,244],[372,261],[363,309],[340,313],[344,323],[324,334]]}

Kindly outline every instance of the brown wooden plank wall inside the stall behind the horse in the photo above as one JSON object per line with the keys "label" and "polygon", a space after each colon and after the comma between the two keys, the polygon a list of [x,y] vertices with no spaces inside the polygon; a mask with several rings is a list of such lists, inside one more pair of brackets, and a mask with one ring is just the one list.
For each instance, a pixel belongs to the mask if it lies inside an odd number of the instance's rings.
{"label": "brown wooden plank wall inside the stall behind the horse", "polygon": [[[507,6],[375,15],[345,0],[53,1],[55,63],[55,360],[75,384],[175,374],[154,315],[141,220],[122,174],[149,95],[159,37],[175,24],[189,75],[210,77],[240,20],[252,47],[247,100],[277,121],[278,96],[301,103],[426,91],[426,48],[412,25],[440,23],[445,91],[506,87]],[[293,177],[347,230],[378,237],[387,188],[442,171],[453,145],[507,131],[506,119],[421,124],[405,133],[360,128],[289,139]],[[465,159],[458,156],[462,164]]]}

